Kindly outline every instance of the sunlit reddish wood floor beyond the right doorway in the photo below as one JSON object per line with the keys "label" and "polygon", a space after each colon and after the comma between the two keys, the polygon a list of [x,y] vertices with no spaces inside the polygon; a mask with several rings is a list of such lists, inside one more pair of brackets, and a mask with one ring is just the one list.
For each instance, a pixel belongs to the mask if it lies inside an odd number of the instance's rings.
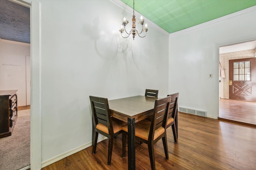
{"label": "sunlit reddish wood floor beyond the right doorway", "polygon": [[219,119],[256,127],[256,102],[220,99]]}

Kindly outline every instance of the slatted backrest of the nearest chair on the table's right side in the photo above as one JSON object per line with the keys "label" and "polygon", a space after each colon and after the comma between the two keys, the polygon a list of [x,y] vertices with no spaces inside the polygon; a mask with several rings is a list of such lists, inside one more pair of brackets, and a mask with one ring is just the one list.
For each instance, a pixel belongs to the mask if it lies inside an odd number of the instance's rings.
{"label": "slatted backrest of the nearest chair on the table's right side", "polygon": [[160,127],[163,127],[164,130],[166,129],[170,101],[171,96],[155,101],[153,116],[151,120],[151,127],[148,136],[149,140],[151,139],[153,141],[155,130],[159,129]]}

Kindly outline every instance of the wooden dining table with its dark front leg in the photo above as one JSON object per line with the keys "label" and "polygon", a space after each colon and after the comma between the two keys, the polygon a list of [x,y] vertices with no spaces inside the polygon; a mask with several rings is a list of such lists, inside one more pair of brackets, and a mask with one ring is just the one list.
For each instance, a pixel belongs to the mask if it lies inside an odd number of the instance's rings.
{"label": "wooden dining table with its dark front leg", "polygon": [[129,170],[135,170],[135,123],[153,114],[156,99],[160,98],[132,96],[108,100],[111,116],[128,124]]}

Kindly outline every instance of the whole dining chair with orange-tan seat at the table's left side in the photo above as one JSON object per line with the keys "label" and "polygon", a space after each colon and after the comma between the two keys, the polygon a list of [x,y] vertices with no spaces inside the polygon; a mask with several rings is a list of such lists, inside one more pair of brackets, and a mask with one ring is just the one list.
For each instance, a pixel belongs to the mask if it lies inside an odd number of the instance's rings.
{"label": "whole dining chair with orange-tan seat at the table's left side", "polygon": [[114,137],[122,133],[122,126],[124,121],[120,121],[110,116],[110,109],[108,106],[108,99],[96,96],[90,96],[90,102],[93,114],[93,149],[95,154],[97,147],[98,134],[108,137],[108,165],[111,164],[111,156],[113,150]]}

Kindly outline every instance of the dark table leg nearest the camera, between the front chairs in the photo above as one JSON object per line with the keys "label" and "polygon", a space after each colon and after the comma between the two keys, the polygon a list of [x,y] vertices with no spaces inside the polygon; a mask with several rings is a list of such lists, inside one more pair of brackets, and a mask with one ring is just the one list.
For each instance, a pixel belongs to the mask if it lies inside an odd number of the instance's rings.
{"label": "dark table leg nearest the camera, between the front chairs", "polygon": [[128,170],[135,170],[135,119],[128,118]]}

